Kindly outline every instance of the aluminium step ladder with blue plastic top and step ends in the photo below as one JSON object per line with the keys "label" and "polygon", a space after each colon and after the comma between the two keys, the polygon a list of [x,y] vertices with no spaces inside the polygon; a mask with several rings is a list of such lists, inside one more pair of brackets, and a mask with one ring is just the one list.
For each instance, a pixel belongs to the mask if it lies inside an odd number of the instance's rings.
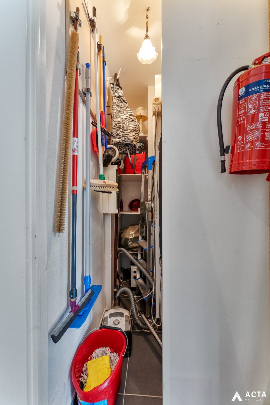
{"label": "aluminium step ladder with blue plastic top and step ends", "polygon": [[[140,189],[140,223],[139,223],[139,240],[138,240],[138,262],[144,269],[153,276],[153,235],[155,231],[155,213],[152,214],[152,209],[155,207],[152,203],[152,180],[153,180],[153,165],[155,164],[155,156],[150,156],[142,163],[142,182]],[[147,201],[145,198],[145,179],[147,178]],[[152,218],[152,223],[151,223]],[[152,232],[153,230],[153,232]],[[143,281],[140,277],[140,271],[136,279],[137,287],[139,288],[142,296],[146,297],[146,316],[150,316],[150,305],[152,294],[151,285],[149,281]]]}

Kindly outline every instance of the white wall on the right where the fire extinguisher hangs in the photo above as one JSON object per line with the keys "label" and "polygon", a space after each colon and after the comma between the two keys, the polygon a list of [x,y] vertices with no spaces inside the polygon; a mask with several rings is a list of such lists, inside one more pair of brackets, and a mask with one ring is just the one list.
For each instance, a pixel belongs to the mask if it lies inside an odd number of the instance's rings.
{"label": "white wall on the right where the fire extinguisher hangs", "polygon": [[268,4],[163,1],[162,43],[163,403],[269,403],[269,184],[219,173],[216,125],[225,79],[268,51]]}

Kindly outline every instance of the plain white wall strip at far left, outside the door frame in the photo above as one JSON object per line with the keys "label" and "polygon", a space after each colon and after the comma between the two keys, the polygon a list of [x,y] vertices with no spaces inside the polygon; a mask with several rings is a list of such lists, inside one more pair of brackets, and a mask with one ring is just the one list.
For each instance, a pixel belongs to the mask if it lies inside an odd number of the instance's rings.
{"label": "plain white wall strip at far left, outside the door frame", "polygon": [[[27,403],[26,343],[26,2],[9,5],[9,32],[0,43],[1,55],[1,279],[2,303],[0,345],[0,395],[2,403]],[[20,41],[17,39],[20,38]],[[18,67],[19,62],[19,67]],[[10,67],[19,68],[19,77]],[[19,79],[19,80],[18,80]],[[11,91],[12,86],[16,91]],[[14,100],[16,100],[16,110]],[[11,370],[20,365],[16,384]],[[11,387],[10,387],[11,388]],[[19,401],[19,402],[18,402]]]}

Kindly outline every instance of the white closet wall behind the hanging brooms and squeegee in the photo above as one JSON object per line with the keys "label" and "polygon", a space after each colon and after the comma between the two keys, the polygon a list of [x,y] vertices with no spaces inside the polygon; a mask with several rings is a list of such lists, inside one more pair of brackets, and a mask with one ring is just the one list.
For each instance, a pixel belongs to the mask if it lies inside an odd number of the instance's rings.
{"label": "white closet wall behind the hanging brooms and squeegee", "polygon": [[[74,394],[70,369],[74,354],[85,331],[98,326],[104,311],[104,215],[102,194],[91,192],[90,274],[93,284],[102,284],[100,295],[87,321],[79,329],[69,329],[59,343],[50,335],[69,311],[71,181],[68,189],[66,231],[58,237],[53,232],[53,210],[60,127],[64,107],[65,84],[65,1],[47,0],[47,273],[48,273],[48,373],[49,403],[69,405]],[[91,4],[89,4],[91,10]],[[52,13],[52,10],[54,12]],[[84,13],[80,6],[81,14]],[[81,60],[81,64],[84,63]],[[84,73],[84,70],[82,70]],[[94,66],[92,71],[94,78]],[[92,85],[94,80],[91,81]],[[94,103],[94,97],[91,104]],[[77,197],[77,290],[80,299],[84,276],[83,183],[85,180],[85,106],[79,98],[79,152]],[[71,173],[70,173],[71,175]],[[91,154],[91,178],[98,178],[98,159]],[[70,176],[71,179],[71,176]],[[82,275],[83,270],[83,275]]]}

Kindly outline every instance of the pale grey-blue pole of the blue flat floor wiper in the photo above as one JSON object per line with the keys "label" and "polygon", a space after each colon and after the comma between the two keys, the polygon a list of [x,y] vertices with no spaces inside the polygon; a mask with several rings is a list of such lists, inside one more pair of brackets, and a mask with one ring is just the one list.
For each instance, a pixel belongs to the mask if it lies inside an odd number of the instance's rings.
{"label": "pale grey-blue pole of the blue flat floor wiper", "polygon": [[[86,88],[90,89],[90,64],[86,64],[85,68],[85,85]],[[85,120],[85,147],[86,147],[86,165],[85,165],[85,275],[89,276],[90,274],[90,94],[86,92],[86,120]],[[91,280],[90,280],[91,284]],[[89,287],[90,287],[89,284]],[[87,288],[85,288],[85,293]],[[89,290],[89,288],[88,288]]]}

